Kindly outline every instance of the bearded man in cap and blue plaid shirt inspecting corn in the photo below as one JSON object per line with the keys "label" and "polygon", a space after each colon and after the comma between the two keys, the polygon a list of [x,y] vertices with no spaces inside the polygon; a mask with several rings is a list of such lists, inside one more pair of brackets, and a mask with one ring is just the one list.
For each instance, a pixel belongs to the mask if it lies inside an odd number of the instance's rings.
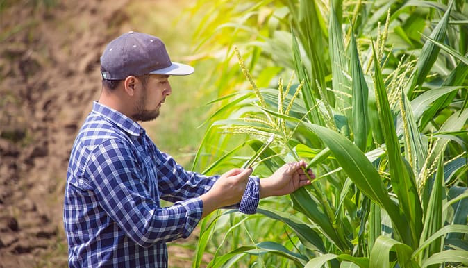
{"label": "bearded man in cap and blue plaid shirt inspecting corn", "polygon": [[[213,210],[255,213],[260,198],[310,183],[303,161],[259,180],[251,168],[202,176],[160,152],[137,122],[159,115],[172,92],[169,76],[192,72],[144,33],[121,35],[103,51],[101,96],[76,137],[67,171],[70,267],[167,267],[165,243],[188,237]],[[174,204],[161,208],[160,199]]]}

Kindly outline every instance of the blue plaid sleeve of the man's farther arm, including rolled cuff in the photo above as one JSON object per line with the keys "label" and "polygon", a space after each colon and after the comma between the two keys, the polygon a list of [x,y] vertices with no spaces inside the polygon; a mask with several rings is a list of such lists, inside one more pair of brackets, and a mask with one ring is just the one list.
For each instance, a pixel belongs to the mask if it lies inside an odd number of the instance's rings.
{"label": "blue plaid sleeve of the man's farther arm, including rolled cuff", "polygon": [[[204,176],[192,171],[185,171],[178,165],[174,158],[167,153],[158,151],[158,186],[161,198],[166,201],[176,202],[194,198],[208,192],[219,176]],[[256,213],[259,194],[260,180],[251,176],[240,203],[225,208],[238,208],[245,214]]]}

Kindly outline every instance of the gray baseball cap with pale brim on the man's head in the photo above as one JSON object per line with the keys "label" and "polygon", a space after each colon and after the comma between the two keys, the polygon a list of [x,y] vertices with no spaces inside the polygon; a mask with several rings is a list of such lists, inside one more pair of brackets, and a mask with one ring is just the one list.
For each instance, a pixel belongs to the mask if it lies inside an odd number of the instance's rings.
{"label": "gray baseball cap with pale brim on the man's head", "polygon": [[146,33],[130,31],[112,40],[101,56],[101,72],[104,79],[122,80],[127,76],[167,74],[185,76],[194,67],[171,62],[164,43]]}

